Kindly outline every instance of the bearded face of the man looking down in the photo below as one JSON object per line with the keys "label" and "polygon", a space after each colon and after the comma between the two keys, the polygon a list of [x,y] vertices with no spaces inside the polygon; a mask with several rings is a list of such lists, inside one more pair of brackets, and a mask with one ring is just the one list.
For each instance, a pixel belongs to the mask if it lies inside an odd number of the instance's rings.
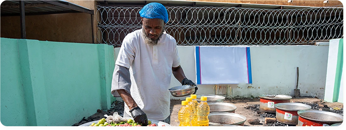
{"label": "bearded face of the man looking down", "polygon": [[148,44],[157,44],[164,32],[165,23],[162,19],[141,18],[143,23],[143,32],[146,34],[146,42]]}

